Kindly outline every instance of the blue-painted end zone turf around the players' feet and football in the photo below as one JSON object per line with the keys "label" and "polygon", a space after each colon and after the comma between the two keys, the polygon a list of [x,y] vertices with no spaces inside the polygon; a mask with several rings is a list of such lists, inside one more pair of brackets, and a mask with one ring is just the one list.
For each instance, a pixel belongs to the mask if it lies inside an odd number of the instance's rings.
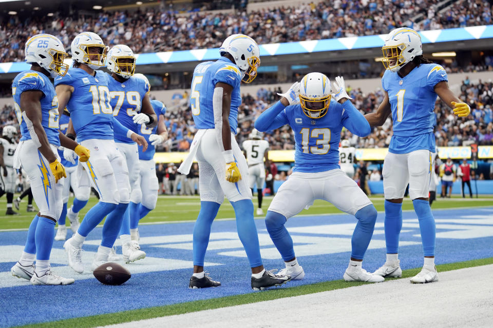
{"label": "blue-painted end zone turf around the players' feet and football", "polygon": [[[438,235],[440,236],[440,233],[449,233],[454,237],[437,238],[437,264],[492,256],[493,207],[488,209],[435,210],[433,214],[435,219],[437,219]],[[419,244],[400,248],[402,269],[421,267],[423,265],[423,253],[418,220],[413,212],[403,213],[403,219],[405,223],[403,231],[407,231],[401,233],[401,241],[413,241]],[[380,226],[375,229],[376,233],[373,235],[373,239],[375,240],[384,240],[384,234],[378,233],[383,231],[383,220],[384,214],[380,213],[377,219],[377,225],[380,224]],[[457,222],[452,222],[454,220]],[[328,224],[341,223],[350,223],[352,230],[356,224],[356,219],[345,214],[295,217],[288,220],[287,227],[288,230],[296,230],[296,228],[301,227],[327,226]],[[256,224],[259,234],[266,234],[263,220],[256,220]],[[409,227],[412,224],[415,227]],[[166,236],[191,234],[193,225],[194,223],[159,224],[141,226],[139,227],[139,231],[141,238],[146,236],[162,236],[162,243],[166,243]],[[441,226],[446,227],[446,229],[441,228]],[[320,232],[322,230],[315,229],[314,231]],[[218,232],[236,233],[235,221],[214,222],[212,233]],[[475,234],[477,235],[478,233],[484,233],[484,236],[475,237]],[[22,245],[26,234],[27,232],[25,231],[0,233],[0,247],[5,245]],[[342,237],[347,238],[349,245],[351,238],[350,235],[313,234],[306,232],[292,232],[292,236],[295,242],[295,251],[300,249],[302,244],[306,244],[306,242],[297,243],[297,238],[299,240],[299,238],[308,236],[315,240],[317,237]],[[463,236],[464,239],[461,239],[460,236]],[[101,238],[101,228],[92,232],[89,238]],[[307,239],[305,238],[305,240]],[[61,249],[62,245],[62,241],[55,241],[53,247],[55,249]],[[272,243],[261,246],[261,249],[265,250],[271,247],[273,247]],[[153,244],[144,244],[142,248],[148,257],[165,257],[192,261],[192,250],[158,248],[153,247]],[[96,252],[97,245],[84,245],[84,250]],[[192,267],[182,270],[132,274],[132,278],[122,286],[105,286],[96,279],[85,279],[77,280],[73,285],[69,286],[32,286],[29,282],[25,281],[25,284],[22,286],[0,288],[0,327],[252,293],[253,291],[250,289],[250,270],[246,256],[234,257],[219,254],[221,252],[241,250],[242,248],[207,251],[206,261],[223,264],[206,268],[206,271],[210,272],[215,280],[219,280],[222,283],[219,288],[215,289],[189,290],[187,286],[188,279],[192,274]],[[18,254],[17,256],[20,255]],[[83,259],[85,256],[87,257],[89,255],[83,252]],[[299,256],[298,260],[306,272],[305,279],[302,281],[292,281],[285,286],[342,279],[348,265],[349,256],[349,251],[335,254]],[[363,267],[368,271],[373,271],[380,267],[384,261],[385,248],[370,249],[366,253]],[[14,262],[12,261],[0,262],[0,271],[8,271],[13,264]],[[57,265],[66,265],[66,260],[63,263],[54,263],[53,267]],[[139,265],[138,262],[125,266],[132,272],[132,268],[135,268],[137,265]],[[283,262],[280,256],[278,256],[277,259],[264,259],[264,265],[267,269],[281,269]],[[163,270],[166,270],[166,268],[163,268]],[[4,275],[3,277],[2,279],[16,279],[12,276]],[[77,274],[73,273],[71,277],[77,277]]]}

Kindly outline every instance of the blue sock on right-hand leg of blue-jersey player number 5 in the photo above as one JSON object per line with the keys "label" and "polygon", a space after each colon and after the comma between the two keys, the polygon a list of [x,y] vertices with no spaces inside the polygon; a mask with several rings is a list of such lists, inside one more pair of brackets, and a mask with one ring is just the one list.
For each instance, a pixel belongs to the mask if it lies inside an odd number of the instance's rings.
{"label": "blue sock on right-hand leg of blue-jersey player number 5", "polygon": [[243,248],[247,253],[250,267],[259,267],[262,265],[262,257],[260,256],[257,227],[253,219],[253,202],[251,199],[242,199],[233,201],[231,204],[235,209],[238,237],[240,237]]}

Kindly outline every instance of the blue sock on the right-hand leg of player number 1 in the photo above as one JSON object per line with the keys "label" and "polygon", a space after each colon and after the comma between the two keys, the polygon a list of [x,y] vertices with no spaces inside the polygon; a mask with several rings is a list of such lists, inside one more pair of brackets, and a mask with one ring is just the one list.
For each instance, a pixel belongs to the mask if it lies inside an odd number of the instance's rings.
{"label": "blue sock on the right-hand leg of player number 1", "polygon": [[431,214],[430,203],[423,199],[412,201],[414,212],[420,221],[421,242],[423,243],[424,256],[435,256],[435,219]]}

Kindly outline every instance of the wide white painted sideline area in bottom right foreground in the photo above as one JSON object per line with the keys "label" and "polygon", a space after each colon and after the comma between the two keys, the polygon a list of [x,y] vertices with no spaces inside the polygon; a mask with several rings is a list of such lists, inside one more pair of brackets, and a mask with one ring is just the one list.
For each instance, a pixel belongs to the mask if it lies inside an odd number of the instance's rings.
{"label": "wide white painted sideline area in bottom right foreground", "polygon": [[404,278],[104,327],[181,328],[191,322],[200,322],[201,328],[216,328],[218,322],[224,327],[274,327],[286,320],[300,327],[321,322],[335,327],[360,323],[382,327],[389,322],[400,327],[486,327],[493,321],[488,272],[493,272],[493,264],[439,273],[438,282],[427,284],[411,284]]}

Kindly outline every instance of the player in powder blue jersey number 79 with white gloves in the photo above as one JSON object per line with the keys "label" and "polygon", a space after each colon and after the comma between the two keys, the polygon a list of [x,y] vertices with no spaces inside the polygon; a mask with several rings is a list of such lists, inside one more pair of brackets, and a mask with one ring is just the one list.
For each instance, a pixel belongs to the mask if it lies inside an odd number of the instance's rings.
{"label": "player in powder blue jersey number 79 with white gloves", "polygon": [[[149,81],[143,74],[134,75],[135,61],[134,52],[126,45],[116,45],[108,52],[107,67],[111,72],[111,75],[108,75],[108,88],[113,116],[125,128],[138,133],[142,125],[152,128],[158,121],[150,104]],[[125,159],[131,193],[138,188],[139,150],[135,141],[118,131],[115,131],[115,143]],[[123,217],[120,239],[125,262],[130,263],[144,258],[145,252],[140,250],[138,241],[130,238],[128,204],[119,204],[114,212],[112,215]]]}

